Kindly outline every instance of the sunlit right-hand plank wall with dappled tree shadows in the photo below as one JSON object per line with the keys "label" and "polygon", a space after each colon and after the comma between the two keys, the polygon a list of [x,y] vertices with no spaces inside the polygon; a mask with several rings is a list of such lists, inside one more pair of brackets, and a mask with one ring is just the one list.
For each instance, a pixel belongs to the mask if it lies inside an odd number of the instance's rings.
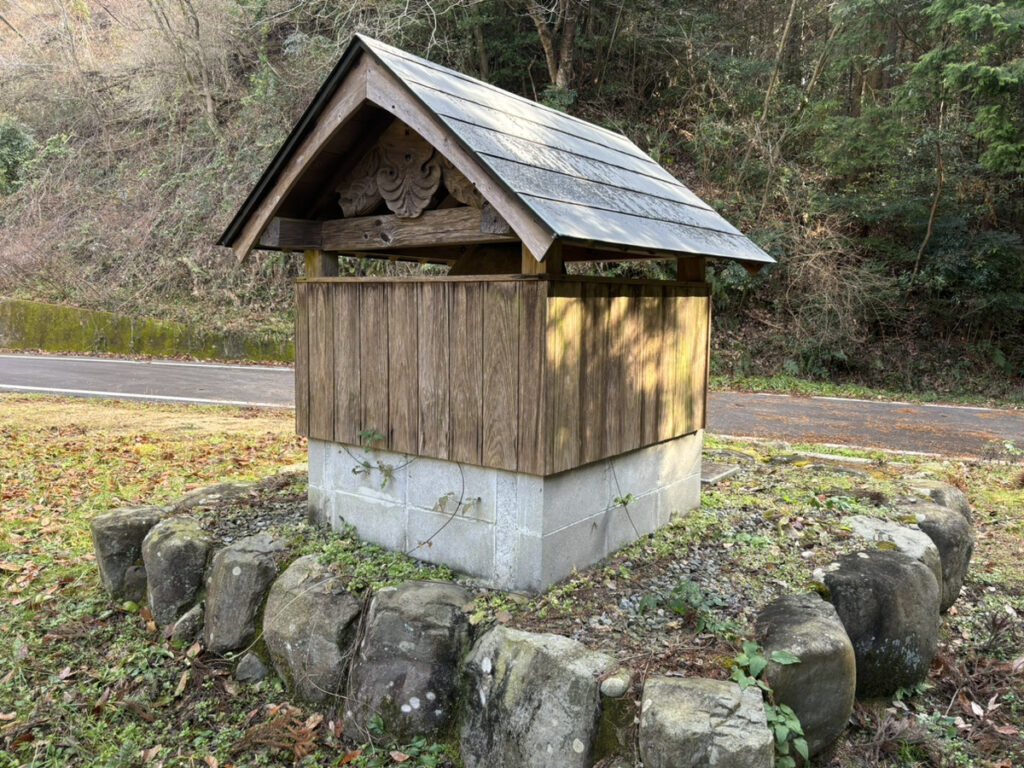
{"label": "sunlit right-hand plank wall with dappled tree shadows", "polygon": [[549,286],[545,474],[703,428],[707,286]]}

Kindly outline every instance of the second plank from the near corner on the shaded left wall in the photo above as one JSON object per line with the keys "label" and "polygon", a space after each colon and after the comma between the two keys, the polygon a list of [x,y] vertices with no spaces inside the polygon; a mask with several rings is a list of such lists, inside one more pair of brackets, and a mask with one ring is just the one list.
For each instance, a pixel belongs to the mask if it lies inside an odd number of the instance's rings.
{"label": "second plank from the near corner on the shaded left wall", "polygon": [[519,425],[519,307],[515,283],[483,290],[483,464],[516,469]]}

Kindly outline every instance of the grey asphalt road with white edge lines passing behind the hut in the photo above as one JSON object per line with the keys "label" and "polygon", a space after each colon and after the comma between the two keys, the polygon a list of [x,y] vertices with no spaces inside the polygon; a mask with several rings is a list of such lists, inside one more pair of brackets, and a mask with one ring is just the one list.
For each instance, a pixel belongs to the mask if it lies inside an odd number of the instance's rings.
{"label": "grey asphalt road with white edge lines passing behind the hut", "polygon": [[[294,387],[287,368],[0,354],[0,393],[291,408]],[[966,457],[1004,440],[1024,447],[1019,411],[712,392],[708,414],[723,435]]]}

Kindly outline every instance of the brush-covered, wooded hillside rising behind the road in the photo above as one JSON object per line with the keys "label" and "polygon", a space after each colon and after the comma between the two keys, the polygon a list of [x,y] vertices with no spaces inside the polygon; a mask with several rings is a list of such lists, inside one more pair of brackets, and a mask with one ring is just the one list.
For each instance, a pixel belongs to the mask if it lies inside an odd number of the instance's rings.
{"label": "brush-covered, wooded hillside rising behind the road", "polygon": [[287,335],[294,258],[212,243],[365,32],[627,133],[771,252],[710,273],[719,370],[1024,396],[1022,25],[1022,0],[0,0],[0,293]]}

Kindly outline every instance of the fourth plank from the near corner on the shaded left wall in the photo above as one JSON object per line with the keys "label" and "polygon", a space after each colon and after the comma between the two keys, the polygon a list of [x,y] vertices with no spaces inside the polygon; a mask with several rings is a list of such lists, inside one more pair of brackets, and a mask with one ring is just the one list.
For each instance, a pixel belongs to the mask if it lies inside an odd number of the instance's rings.
{"label": "fourth plank from the near corner on the shaded left wall", "polygon": [[419,286],[417,326],[420,334],[418,370],[418,454],[449,458],[449,294],[443,283]]}

